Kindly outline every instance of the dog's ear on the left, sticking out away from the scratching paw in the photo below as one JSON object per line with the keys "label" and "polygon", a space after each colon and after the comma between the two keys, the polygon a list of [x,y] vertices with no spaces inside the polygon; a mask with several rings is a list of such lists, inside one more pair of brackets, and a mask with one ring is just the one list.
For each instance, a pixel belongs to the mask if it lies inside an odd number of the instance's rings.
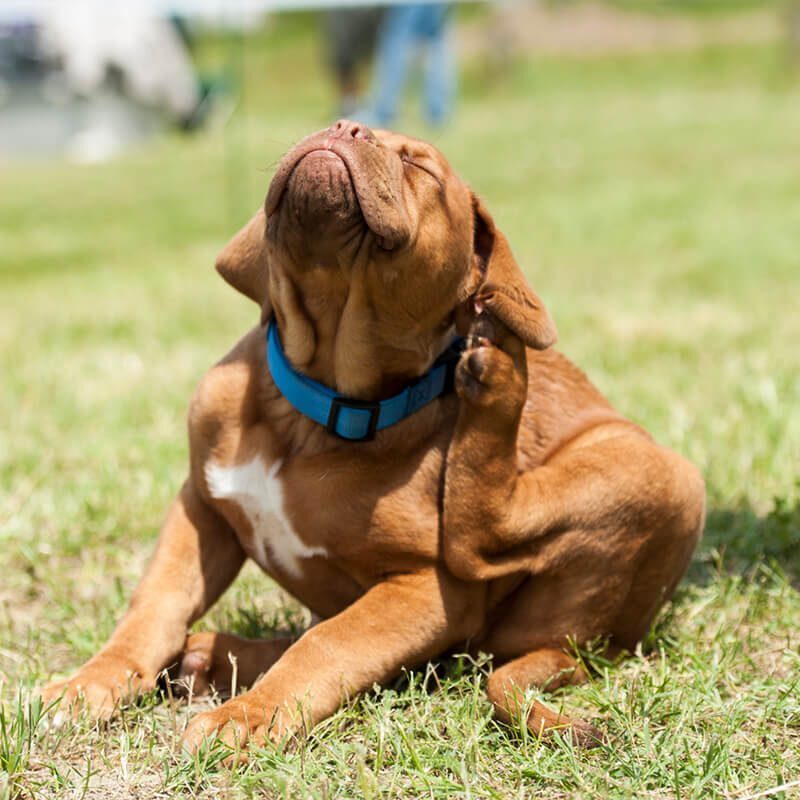
{"label": "dog's ear on the left, sticking out away from the scratching paw", "polygon": [[260,208],[217,256],[217,272],[237,291],[261,306],[262,324],[272,314],[269,300],[266,215]]}

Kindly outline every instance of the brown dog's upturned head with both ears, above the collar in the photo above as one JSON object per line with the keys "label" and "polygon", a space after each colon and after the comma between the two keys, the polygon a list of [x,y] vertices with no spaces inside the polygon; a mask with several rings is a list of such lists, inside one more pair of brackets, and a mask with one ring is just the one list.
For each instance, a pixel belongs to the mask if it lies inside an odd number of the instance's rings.
{"label": "brown dog's upturned head with both ears, above the collar", "polygon": [[555,327],[483,203],[432,145],[339,121],[281,161],[217,269],[295,366],[352,397],[424,373],[476,306],[529,347]]}

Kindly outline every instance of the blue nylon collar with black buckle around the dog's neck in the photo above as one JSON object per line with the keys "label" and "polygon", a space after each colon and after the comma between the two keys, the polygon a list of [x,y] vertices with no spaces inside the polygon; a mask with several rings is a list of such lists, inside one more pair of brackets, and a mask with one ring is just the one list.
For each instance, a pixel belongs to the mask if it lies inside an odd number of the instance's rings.
{"label": "blue nylon collar with black buckle around the dog's neck", "polygon": [[464,340],[457,338],[421,378],[387,400],[350,400],[302,375],[284,355],[274,318],[267,326],[267,367],[283,396],[328,433],[351,442],[366,442],[375,432],[410,417],[453,389],[453,375]]}

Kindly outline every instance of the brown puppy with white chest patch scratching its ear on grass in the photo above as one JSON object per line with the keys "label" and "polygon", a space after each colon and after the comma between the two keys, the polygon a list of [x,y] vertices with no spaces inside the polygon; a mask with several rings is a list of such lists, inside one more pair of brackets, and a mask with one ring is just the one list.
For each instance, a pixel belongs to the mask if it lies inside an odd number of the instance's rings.
{"label": "brown puppy with white chest patch scratching its ear on grass", "polygon": [[[308,137],[217,269],[261,327],[195,393],[189,477],[127,614],[46,700],[108,715],[176,663],[224,686],[230,652],[252,688],[196,716],[187,745],[276,740],[469,647],[494,655],[508,720],[526,687],[585,679],[570,643],[643,636],[700,536],[703,481],[547,349],[547,310],[432,146],[346,121]],[[271,320],[292,368],[362,401],[370,428],[458,329],[456,391],[345,441],[276,386]],[[294,642],[187,639],[248,556],[324,621]],[[527,721],[591,735],[538,702]]]}

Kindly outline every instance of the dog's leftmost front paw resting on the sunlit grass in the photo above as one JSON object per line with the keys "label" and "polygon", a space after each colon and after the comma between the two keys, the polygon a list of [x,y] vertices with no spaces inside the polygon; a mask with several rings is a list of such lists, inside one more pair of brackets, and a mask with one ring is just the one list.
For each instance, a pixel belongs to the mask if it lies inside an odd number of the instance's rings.
{"label": "dog's leftmost front paw resting on the sunlit grass", "polygon": [[132,664],[114,657],[95,656],[75,675],[38,690],[50,724],[59,727],[86,712],[93,719],[111,718],[123,703],[155,687]]}

